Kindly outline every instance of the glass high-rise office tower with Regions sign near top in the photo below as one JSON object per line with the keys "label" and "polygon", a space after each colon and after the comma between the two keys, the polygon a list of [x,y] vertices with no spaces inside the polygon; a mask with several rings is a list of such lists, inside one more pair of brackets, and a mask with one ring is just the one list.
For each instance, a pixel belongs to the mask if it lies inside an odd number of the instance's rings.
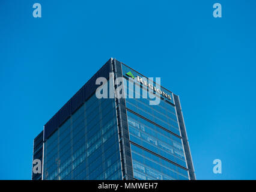
{"label": "glass high-rise office tower with Regions sign near top", "polygon": [[180,99],[153,80],[109,59],[35,137],[32,179],[195,179]]}

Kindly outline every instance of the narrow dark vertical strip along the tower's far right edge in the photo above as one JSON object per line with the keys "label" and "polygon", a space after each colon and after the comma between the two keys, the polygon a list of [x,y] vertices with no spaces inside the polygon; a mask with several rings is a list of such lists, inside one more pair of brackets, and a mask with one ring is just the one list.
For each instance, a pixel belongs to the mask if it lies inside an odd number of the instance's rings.
{"label": "narrow dark vertical strip along the tower's far right edge", "polygon": [[178,124],[180,125],[181,137],[182,137],[184,150],[186,154],[187,167],[189,169],[189,177],[191,180],[195,180],[195,171],[192,163],[192,156],[189,149],[189,143],[187,141],[187,133],[186,133],[186,128],[184,124],[183,114],[181,111],[180,98],[175,94],[173,94],[173,96],[174,96],[175,106],[176,106],[177,115],[178,115]]}

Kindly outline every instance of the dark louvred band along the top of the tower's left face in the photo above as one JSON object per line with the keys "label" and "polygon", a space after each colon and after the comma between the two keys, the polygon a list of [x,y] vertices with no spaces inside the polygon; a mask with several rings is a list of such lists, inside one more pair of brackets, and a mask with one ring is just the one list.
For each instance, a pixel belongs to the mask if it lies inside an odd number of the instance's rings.
{"label": "dark louvred band along the top of the tower's left face", "polygon": [[96,91],[99,86],[95,83],[96,79],[98,77],[108,79],[110,72],[111,59],[44,125],[44,140],[48,139]]}

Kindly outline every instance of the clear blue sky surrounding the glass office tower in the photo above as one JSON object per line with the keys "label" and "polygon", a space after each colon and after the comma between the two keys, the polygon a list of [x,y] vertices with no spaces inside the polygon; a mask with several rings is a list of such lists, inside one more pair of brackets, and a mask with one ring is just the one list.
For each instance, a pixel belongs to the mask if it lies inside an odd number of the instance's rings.
{"label": "clear blue sky surrounding the glass office tower", "polygon": [[31,179],[34,137],[111,57],[180,95],[197,179],[256,179],[255,19],[253,0],[2,0],[0,179]]}

